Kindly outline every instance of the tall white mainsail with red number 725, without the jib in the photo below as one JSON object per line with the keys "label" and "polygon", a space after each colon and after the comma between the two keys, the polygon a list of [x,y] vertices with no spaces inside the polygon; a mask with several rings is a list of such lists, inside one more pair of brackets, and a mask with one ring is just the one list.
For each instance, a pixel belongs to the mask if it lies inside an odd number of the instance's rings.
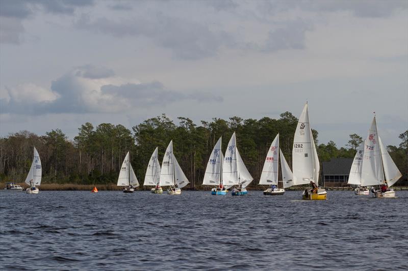
{"label": "tall white mainsail with red number 725, without the jib", "polygon": [[381,152],[378,144],[377,123],[375,116],[365,140],[363,165],[361,170],[361,186],[384,184]]}

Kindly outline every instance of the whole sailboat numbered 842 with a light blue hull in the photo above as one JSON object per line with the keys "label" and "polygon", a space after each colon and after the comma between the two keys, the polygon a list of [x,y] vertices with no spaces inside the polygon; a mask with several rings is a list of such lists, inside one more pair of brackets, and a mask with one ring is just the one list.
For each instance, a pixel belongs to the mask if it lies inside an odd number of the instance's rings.
{"label": "whole sailboat numbered 842 with a light blue hull", "polygon": [[224,162],[224,156],[221,150],[221,137],[215,144],[213,151],[211,152],[210,159],[207,164],[206,173],[202,180],[202,185],[216,186],[211,189],[211,195],[226,195],[228,192],[227,186],[222,183],[222,163]]}

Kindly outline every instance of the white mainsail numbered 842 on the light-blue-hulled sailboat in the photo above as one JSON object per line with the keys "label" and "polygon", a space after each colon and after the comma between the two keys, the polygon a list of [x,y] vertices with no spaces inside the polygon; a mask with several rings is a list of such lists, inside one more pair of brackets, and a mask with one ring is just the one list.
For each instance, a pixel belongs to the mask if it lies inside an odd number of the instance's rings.
{"label": "white mainsail numbered 842 on the light-blue-hulled sailboat", "polygon": [[202,180],[203,185],[218,186],[220,184],[221,174],[221,137],[215,144],[213,151],[211,152],[210,159],[207,163],[206,173]]}

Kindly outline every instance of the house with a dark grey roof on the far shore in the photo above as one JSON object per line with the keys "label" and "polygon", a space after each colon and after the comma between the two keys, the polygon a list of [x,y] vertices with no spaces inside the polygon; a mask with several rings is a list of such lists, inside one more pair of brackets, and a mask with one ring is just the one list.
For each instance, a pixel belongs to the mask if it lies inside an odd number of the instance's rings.
{"label": "house with a dark grey roof on the far shore", "polygon": [[330,161],[322,162],[321,179],[325,187],[349,186],[348,175],[350,174],[351,158],[332,158]]}

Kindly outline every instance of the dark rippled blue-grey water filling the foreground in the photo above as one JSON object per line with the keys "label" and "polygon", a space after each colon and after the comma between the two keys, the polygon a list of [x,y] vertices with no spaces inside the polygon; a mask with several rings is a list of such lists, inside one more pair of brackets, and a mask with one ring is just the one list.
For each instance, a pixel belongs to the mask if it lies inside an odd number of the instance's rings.
{"label": "dark rippled blue-grey water filling the foreground", "polygon": [[407,269],[408,191],[0,191],[0,269]]}

